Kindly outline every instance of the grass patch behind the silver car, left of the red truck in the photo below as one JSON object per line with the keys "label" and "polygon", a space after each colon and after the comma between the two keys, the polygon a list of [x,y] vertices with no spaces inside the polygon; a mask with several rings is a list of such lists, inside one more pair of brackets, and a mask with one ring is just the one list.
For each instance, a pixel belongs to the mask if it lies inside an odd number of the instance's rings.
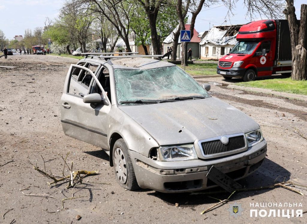
{"label": "grass patch behind the silver car, left of the red truck", "polygon": [[[183,69],[183,66],[178,65]],[[194,63],[185,66],[185,71],[191,76],[216,75],[216,63]]]}

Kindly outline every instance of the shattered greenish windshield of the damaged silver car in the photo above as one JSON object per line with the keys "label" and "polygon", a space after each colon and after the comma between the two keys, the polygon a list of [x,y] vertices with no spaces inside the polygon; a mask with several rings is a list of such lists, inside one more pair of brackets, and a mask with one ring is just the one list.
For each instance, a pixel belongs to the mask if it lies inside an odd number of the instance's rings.
{"label": "shattered greenish windshield of the damaged silver car", "polygon": [[[116,94],[121,102],[205,98],[210,95],[177,66],[157,69],[114,69]],[[194,98],[193,98],[194,99]]]}

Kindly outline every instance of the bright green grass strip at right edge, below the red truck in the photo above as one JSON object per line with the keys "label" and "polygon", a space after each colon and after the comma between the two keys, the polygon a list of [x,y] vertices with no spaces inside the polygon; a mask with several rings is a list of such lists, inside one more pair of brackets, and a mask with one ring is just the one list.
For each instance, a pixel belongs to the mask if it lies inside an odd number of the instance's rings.
{"label": "bright green grass strip at right edge, below the red truck", "polygon": [[307,81],[295,81],[290,78],[266,79],[251,82],[239,82],[236,85],[271,89],[278,92],[307,95]]}

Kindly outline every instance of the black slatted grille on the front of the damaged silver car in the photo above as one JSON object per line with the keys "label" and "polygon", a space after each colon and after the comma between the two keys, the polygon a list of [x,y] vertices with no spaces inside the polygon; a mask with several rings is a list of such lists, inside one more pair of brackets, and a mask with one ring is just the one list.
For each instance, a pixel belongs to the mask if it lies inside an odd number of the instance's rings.
{"label": "black slatted grille on the front of the damaged silver car", "polygon": [[231,151],[243,149],[246,146],[243,135],[228,138],[228,143],[223,144],[220,139],[201,143],[204,155],[228,154]]}

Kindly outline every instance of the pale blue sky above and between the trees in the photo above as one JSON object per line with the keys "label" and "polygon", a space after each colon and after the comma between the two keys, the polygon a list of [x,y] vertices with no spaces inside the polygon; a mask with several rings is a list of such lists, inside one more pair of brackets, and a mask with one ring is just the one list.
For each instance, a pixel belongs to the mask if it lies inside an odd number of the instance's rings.
{"label": "pale blue sky above and between the trees", "polygon": [[[224,22],[227,13],[224,6],[215,5],[204,8],[196,19],[196,30],[202,32],[208,30],[209,25],[212,27],[222,23],[247,23],[250,19],[245,18],[246,9],[242,7],[241,1],[237,4],[237,9],[234,11],[235,15],[230,20],[227,18],[227,22]],[[43,27],[46,17],[55,18],[58,15],[63,2],[64,0],[0,0],[2,15],[0,29],[3,30],[7,38],[13,39],[15,35],[24,35],[27,28],[33,30],[37,26]],[[306,3],[306,0],[294,1],[298,17],[302,3]]]}

